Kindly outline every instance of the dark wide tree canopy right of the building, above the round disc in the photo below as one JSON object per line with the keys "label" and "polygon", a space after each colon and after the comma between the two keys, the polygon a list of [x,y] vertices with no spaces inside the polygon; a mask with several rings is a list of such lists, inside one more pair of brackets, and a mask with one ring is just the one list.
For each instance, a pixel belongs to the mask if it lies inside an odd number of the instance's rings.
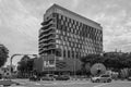
{"label": "dark wide tree canopy right of the building, above the round disc", "polygon": [[81,61],[83,62],[83,66],[85,66],[87,63],[91,64],[91,66],[95,63],[103,63],[106,67],[111,69],[124,69],[130,67],[131,69],[131,53],[112,53],[112,54],[88,54],[86,57],[81,58]]}

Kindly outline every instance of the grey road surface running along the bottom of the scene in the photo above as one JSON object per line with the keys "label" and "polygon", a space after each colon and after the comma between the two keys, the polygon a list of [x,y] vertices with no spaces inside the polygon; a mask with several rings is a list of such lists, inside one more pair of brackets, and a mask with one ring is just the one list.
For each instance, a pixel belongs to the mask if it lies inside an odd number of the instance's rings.
{"label": "grey road surface running along the bottom of the scene", "polygon": [[27,79],[17,79],[16,82],[22,84],[21,87],[131,87],[131,82],[128,80],[116,80],[111,83],[91,83],[87,80],[28,82]]}

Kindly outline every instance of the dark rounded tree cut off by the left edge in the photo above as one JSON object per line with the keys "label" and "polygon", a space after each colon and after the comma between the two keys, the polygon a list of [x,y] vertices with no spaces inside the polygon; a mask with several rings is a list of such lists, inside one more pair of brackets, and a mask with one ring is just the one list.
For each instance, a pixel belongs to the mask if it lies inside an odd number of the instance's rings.
{"label": "dark rounded tree cut off by the left edge", "polygon": [[3,45],[0,45],[0,67],[3,66],[9,58],[9,50]]}

